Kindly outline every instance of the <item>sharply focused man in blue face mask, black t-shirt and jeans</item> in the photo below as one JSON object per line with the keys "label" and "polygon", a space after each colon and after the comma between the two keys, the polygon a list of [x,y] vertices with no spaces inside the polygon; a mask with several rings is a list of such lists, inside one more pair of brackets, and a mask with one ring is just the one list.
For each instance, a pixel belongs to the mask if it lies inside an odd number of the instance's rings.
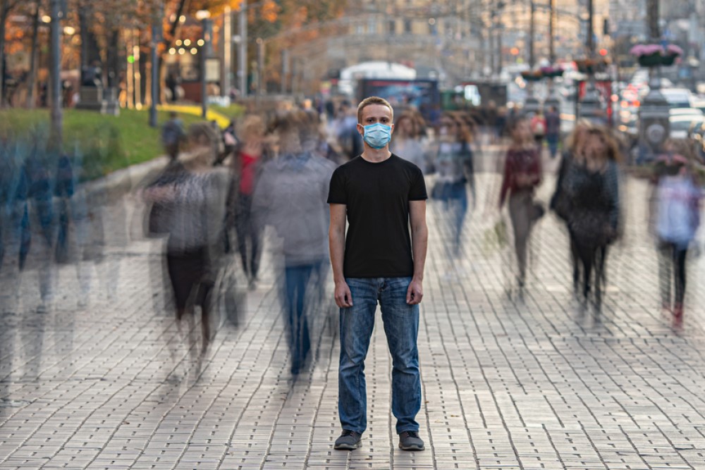
{"label": "sharply focused man in blue face mask, black t-shirt and jeans", "polygon": [[364,358],[379,302],[392,357],[399,447],[423,450],[415,417],[421,408],[416,343],[428,240],[424,175],[389,151],[394,125],[388,101],[364,99],[357,121],[364,152],[336,169],[328,196],[335,299],[341,307],[338,415],[343,433],[335,448],[360,447],[367,428]]}

